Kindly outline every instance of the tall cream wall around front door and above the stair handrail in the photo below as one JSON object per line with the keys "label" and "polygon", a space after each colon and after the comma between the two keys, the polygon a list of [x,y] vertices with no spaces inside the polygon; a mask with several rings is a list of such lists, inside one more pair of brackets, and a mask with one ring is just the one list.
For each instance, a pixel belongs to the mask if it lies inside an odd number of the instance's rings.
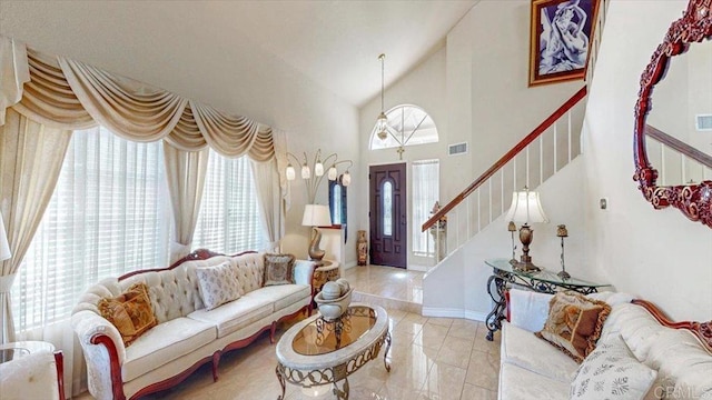
{"label": "tall cream wall around front door and above the stair handrail", "polygon": [[[404,160],[441,160],[441,204],[462,192],[584,84],[527,87],[530,6],[527,0],[477,3],[448,33],[445,49],[386,90],[386,110],[413,103],[435,121],[439,142],[408,147]],[[368,150],[379,108],[380,99],[375,98],[359,110],[365,171],[368,164],[398,159],[395,149]],[[447,146],[458,142],[468,142],[469,153],[448,157]],[[367,211],[367,192],[360,202]],[[423,222],[408,220],[411,226]]]}

